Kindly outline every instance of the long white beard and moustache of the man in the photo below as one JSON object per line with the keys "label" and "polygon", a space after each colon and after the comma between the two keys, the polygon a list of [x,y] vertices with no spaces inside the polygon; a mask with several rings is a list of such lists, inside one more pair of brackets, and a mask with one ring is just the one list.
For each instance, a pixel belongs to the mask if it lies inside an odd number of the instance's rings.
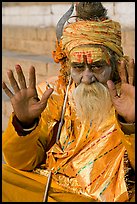
{"label": "long white beard and moustache of the man", "polygon": [[90,85],[79,84],[72,97],[76,105],[76,114],[82,123],[94,122],[100,125],[110,114],[112,101],[109,90],[99,82]]}

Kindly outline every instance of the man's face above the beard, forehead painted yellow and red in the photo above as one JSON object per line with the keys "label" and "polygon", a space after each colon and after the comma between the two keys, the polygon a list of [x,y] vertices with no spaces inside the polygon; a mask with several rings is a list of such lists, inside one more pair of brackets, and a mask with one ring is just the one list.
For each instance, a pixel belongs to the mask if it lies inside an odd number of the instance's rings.
{"label": "man's face above the beard, forehead painted yellow and red", "polygon": [[70,55],[71,76],[74,82],[91,84],[100,82],[106,85],[111,78],[112,67],[106,55],[99,48],[88,48],[88,50],[79,48]]}

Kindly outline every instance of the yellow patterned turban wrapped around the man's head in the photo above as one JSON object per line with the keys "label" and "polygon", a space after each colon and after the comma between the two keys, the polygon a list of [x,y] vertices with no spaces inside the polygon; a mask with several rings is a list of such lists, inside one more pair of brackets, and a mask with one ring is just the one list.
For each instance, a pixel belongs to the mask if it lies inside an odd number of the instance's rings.
{"label": "yellow patterned turban wrapped around the man's head", "polygon": [[104,45],[113,50],[118,57],[123,56],[121,47],[121,26],[112,20],[77,21],[68,24],[61,38],[62,49],[69,56],[73,48],[80,45]]}

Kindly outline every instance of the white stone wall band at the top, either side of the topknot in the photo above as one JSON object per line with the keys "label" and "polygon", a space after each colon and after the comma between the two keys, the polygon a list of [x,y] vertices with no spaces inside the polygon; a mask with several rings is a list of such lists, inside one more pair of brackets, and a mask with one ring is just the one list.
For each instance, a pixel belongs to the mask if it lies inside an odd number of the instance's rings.
{"label": "white stone wall band at the top, either side of the topknot", "polygon": [[[7,3],[11,6],[3,6],[2,8],[3,24],[39,27],[56,26],[60,17],[71,5],[70,2]],[[13,3],[16,6],[13,6]],[[102,4],[106,7],[108,16],[119,21],[123,29],[135,28],[135,2],[102,2]]]}

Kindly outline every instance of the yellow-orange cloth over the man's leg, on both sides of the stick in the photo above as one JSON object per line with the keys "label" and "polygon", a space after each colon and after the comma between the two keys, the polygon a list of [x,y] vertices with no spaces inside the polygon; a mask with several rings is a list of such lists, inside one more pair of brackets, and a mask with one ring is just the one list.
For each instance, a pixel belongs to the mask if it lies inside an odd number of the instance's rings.
{"label": "yellow-orange cloth over the man's leg, on both sides of the stick", "polygon": [[[2,202],[42,202],[45,185],[8,165],[2,167]],[[54,181],[51,182],[48,195],[48,202],[95,202],[86,196],[66,192]]]}

